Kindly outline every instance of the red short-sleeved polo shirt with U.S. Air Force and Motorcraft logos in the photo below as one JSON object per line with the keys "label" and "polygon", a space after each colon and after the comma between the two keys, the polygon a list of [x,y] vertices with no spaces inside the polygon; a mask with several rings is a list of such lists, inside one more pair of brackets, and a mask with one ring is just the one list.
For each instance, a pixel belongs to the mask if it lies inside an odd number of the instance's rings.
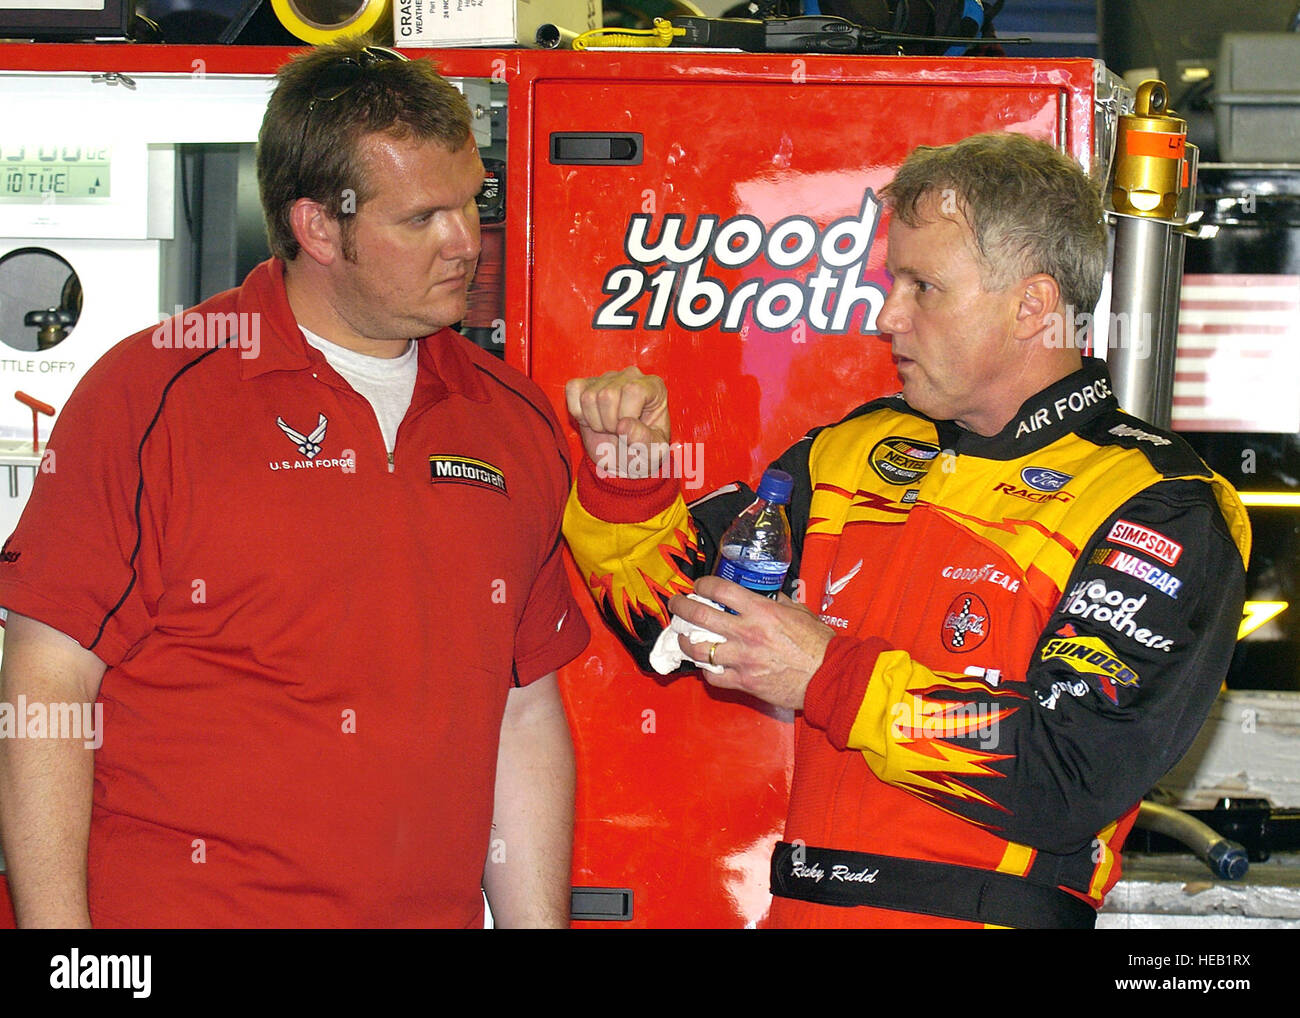
{"label": "red short-sleeved polo shirt with U.S. Air Force and Motorcraft logos", "polygon": [[588,638],[566,443],[445,330],[390,464],[282,272],[90,369],[0,563],[0,605],[108,666],[91,918],[481,924],[506,696]]}

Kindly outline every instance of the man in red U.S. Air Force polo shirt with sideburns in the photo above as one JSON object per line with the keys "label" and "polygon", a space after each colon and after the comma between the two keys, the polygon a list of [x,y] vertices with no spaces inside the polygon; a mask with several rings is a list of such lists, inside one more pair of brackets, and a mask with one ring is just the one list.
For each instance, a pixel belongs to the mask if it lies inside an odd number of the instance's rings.
{"label": "man in red U.S. Air Force polo shirt with sideburns", "polygon": [[541,393],[446,329],[468,125],[425,61],[287,65],[274,257],[64,408],[0,564],[0,701],[103,724],[0,740],[21,924],[468,927],[484,889],[567,923],[569,467]]}

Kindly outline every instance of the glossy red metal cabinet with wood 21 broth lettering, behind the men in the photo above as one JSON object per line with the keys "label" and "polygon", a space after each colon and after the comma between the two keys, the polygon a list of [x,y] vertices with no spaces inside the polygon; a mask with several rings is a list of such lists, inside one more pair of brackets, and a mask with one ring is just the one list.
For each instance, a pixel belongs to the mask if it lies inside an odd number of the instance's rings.
{"label": "glossy red metal cabinet with wood 21 broth lettering, behind the men", "polygon": [[[664,376],[688,499],[755,481],[809,428],[897,391],[870,299],[888,289],[883,224],[861,261],[814,280],[846,260],[826,250],[835,224],[858,254],[875,192],[915,146],[1010,130],[1093,157],[1092,61],[533,56],[521,352],[556,407],[573,376]],[[564,161],[566,135],[594,135],[578,159],[611,159]],[[841,300],[852,313],[836,313]],[[576,436],[572,449],[576,462]],[[578,755],[573,881],[614,893],[578,901],[628,909],[634,927],[760,922],[789,714],[694,675],[642,675],[584,603],[594,636],[562,672]]]}

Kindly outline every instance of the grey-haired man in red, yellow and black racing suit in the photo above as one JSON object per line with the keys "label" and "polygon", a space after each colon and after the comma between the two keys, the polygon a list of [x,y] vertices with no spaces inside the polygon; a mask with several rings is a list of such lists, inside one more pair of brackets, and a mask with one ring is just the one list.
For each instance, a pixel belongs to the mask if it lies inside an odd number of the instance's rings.
{"label": "grey-haired man in red, yellow and black racing suit", "polygon": [[885,198],[902,391],[775,464],[786,590],[818,614],[708,575],[748,489],[688,508],[653,469],[597,471],[602,442],[668,441],[636,368],[569,382],[589,459],[566,534],[642,663],[671,611],[724,637],[681,638],[710,683],[800,711],[771,924],[1088,927],[1226,672],[1245,512],[1075,348],[1105,260],[1078,166],[982,135],[918,150]]}

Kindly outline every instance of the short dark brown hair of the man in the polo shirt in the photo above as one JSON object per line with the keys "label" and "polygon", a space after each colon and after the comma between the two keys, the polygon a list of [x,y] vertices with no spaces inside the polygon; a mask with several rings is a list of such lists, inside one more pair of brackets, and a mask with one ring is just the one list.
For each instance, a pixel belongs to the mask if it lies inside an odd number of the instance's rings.
{"label": "short dark brown hair of the man in the polo shirt", "polygon": [[[320,202],[339,221],[343,254],[352,257],[351,213],[373,196],[360,159],[367,135],[437,140],[452,152],[469,138],[469,105],[433,64],[372,61],[365,49],[364,39],[320,46],[276,75],[257,135],[257,187],[270,252],[285,261],[298,257],[290,211],[299,198]],[[356,81],[333,99],[316,98],[321,74],[341,61],[361,65]]]}

